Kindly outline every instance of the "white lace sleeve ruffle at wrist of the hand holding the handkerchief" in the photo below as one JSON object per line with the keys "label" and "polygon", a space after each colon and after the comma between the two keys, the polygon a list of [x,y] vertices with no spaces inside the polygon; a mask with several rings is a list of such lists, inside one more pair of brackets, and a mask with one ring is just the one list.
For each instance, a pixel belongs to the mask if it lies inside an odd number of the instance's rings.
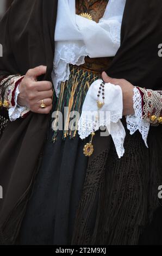
{"label": "white lace sleeve ruffle at wrist of the hand holding the handkerchief", "polygon": [[139,90],[136,87],[134,88],[133,102],[135,114],[127,115],[127,128],[130,131],[131,135],[133,135],[135,131],[139,130],[139,132],[142,135],[142,138],[144,139],[145,145],[148,148],[147,136],[150,124],[147,120],[144,120],[142,118],[142,97]]}

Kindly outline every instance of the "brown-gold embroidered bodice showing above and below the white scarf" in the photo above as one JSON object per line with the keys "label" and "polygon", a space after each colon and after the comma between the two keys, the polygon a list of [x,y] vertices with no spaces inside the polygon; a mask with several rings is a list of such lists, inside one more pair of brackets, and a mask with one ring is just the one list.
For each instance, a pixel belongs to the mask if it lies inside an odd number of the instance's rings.
{"label": "brown-gold embroidered bodice showing above and below the white scarf", "polygon": [[[98,22],[104,15],[107,7],[108,0],[76,0],[76,13],[78,15],[82,13],[88,13],[92,16],[92,19]],[[95,71],[99,74],[109,68],[113,57],[105,58],[89,58],[85,57],[85,63],[80,68],[88,71]]]}

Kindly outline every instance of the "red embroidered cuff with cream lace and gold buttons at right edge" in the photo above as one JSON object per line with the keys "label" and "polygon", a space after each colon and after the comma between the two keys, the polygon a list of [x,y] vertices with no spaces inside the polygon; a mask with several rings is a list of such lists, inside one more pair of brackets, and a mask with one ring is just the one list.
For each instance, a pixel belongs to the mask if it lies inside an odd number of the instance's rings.
{"label": "red embroidered cuff with cream lace and gold buttons at right edge", "polygon": [[137,88],[142,97],[142,118],[151,124],[162,124],[162,91]]}

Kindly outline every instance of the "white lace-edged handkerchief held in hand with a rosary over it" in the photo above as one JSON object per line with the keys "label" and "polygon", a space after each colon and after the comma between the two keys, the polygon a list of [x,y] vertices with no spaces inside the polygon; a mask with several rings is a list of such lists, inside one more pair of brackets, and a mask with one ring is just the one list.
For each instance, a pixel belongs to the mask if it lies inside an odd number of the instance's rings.
{"label": "white lace-edged handkerchief held in hand with a rosary over it", "polygon": [[103,102],[102,93],[99,94],[99,97],[97,96],[102,82],[102,80],[96,80],[86,94],[78,122],[78,133],[81,139],[85,139],[102,126],[107,127],[113,138],[117,155],[121,158],[124,154],[123,144],[126,137],[126,131],[120,121],[123,112],[122,90],[120,86],[105,83],[104,105],[98,109],[97,101]]}

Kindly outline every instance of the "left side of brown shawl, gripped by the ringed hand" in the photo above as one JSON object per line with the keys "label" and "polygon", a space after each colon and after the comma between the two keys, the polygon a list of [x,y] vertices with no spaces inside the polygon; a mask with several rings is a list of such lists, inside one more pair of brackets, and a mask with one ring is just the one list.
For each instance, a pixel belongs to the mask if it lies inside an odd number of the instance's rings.
{"label": "left side of brown shawl, gripped by the ringed hand", "polygon": [[[47,65],[41,80],[51,80],[57,1],[16,0],[0,23],[3,57],[0,75],[26,74]],[[8,123],[1,138],[0,243],[13,244],[26,208],[28,192],[45,140],[48,115],[30,113]]]}

